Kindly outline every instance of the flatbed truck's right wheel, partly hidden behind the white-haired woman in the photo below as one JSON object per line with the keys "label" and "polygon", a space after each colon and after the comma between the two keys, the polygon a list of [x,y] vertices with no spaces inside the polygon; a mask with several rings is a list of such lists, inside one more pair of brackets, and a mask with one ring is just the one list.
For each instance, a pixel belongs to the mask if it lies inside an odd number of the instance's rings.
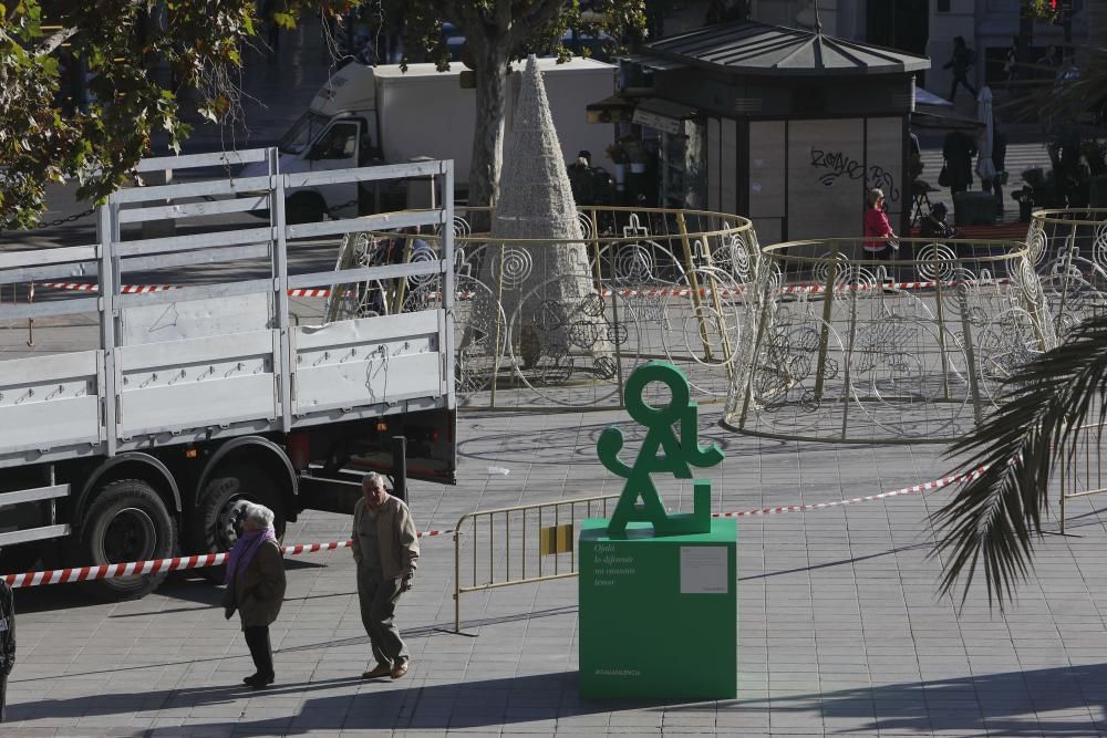
{"label": "flatbed truck's right wheel, partly hidden behind the white-haired woman", "polygon": [[[188,530],[189,553],[229,551],[238,540],[234,518],[247,502],[263,505],[273,511],[277,539],[284,538],[284,501],[272,477],[240,464],[221,466],[204,486],[199,502],[193,510]],[[204,576],[221,582],[223,567],[198,570]]]}

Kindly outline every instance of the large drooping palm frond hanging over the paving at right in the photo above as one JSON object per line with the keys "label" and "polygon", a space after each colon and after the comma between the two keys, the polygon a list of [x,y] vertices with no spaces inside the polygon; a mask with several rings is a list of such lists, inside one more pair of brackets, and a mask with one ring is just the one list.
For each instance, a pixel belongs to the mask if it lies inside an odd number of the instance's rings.
{"label": "large drooping palm frond hanging over the paving at right", "polygon": [[1001,607],[1031,567],[1042,514],[1049,506],[1055,454],[1063,456],[1088,416],[1107,404],[1107,315],[1072,331],[1053,351],[1027,362],[1004,382],[1000,409],[948,456],[966,455],[963,469],[984,467],[962,482],[933,513],[939,530],[931,555],[943,557],[940,592],[964,576],[961,602],[983,565],[989,601]]}

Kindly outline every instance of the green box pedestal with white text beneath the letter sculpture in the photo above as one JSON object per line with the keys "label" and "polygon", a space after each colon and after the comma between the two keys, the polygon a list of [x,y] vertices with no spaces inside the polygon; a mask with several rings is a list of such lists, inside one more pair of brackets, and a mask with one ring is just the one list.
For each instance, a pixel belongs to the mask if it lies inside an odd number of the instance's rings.
{"label": "green box pedestal with white text beneath the letter sculpture", "polygon": [[737,694],[737,528],[654,537],[630,523],[608,538],[584,520],[580,555],[580,696],[733,699]]}

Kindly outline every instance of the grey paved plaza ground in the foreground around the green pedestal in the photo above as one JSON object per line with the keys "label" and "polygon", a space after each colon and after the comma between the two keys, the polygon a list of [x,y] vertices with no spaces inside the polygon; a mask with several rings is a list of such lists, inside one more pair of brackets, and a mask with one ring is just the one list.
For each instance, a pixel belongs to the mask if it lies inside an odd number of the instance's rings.
{"label": "grey paved plaza ground in the foreground around the green pedestal", "polygon": [[[950,469],[940,446],[828,446],[746,438],[702,409],[720,511],[897,489]],[[476,509],[614,493],[594,444],[618,413],[463,414],[461,484],[415,485],[421,529]],[[509,469],[507,476],[488,467]],[[659,480],[660,481],[660,480]],[[691,486],[659,485],[674,508]],[[19,659],[3,736],[676,735],[1095,736],[1107,731],[1107,531],[1096,498],[1038,543],[1006,612],[982,589],[962,609],[935,595],[927,514],[948,492],[738,521],[738,695],[705,703],[577,696],[576,580],[463,597],[453,627],[453,543],[424,539],[399,620],[413,667],[362,682],[369,646],[349,551],[289,560],[272,627],[278,682],[255,693],[237,622],[199,578],[135,602],[95,604],[73,585],[17,592]],[[308,512],[290,542],[345,537]],[[1048,523],[1056,530],[1056,522]],[[503,542],[495,557],[503,555]],[[464,554],[464,552],[463,552]],[[672,633],[694,627],[695,613]]]}

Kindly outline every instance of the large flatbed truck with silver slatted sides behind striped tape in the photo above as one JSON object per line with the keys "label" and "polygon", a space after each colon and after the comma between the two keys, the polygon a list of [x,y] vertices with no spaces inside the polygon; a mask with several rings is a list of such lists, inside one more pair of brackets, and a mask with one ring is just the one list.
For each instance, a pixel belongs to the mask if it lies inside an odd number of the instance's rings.
{"label": "large flatbed truck with silver slatted sides behind striped tape", "polygon": [[[40,334],[63,335],[43,351],[9,344],[24,355],[0,361],[0,573],[40,557],[83,567],[224,551],[245,502],[271,508],[282,532],[304,509],[351,511],[364,470],[454,481],[451,164],[284,174],[277,158],[270,148],[144,162],[141,171],[258,163],[266,175],[124,189],[101,206],[97,242],[0,253],[0,285],[94,280],[0,304],[0,323],[32,319]],[[442,190],[437,208],[284,222],[289,189],[412,177]],[[228,227],[258,209],[269,224]],[[167,217],[188,235],[143,238],[144,222]],[[437,259],[318,271],[333,263],[320,249],[350,233],[415,226],[443,231]],[[185,283],[125,289],[161,269]],[[433,299],[313,325],[290,308],[290,291],[399,290],[405,279]],[[164,575],[90,586],[142,596]]]}

